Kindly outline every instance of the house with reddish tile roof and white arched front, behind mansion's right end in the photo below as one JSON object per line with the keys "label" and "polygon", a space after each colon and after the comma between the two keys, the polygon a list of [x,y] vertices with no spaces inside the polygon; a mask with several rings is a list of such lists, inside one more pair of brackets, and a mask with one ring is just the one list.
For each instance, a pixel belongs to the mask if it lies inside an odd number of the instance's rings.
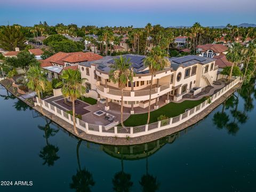
{"label": "house with reddish tile roof and white arched front, behind mansion's right end", "polygon": [[197,45],[196,51],[201,57],[213,58],[214,55],[219,55],[220,53],[226,54],[228,47],[221,44],[205,44]]}

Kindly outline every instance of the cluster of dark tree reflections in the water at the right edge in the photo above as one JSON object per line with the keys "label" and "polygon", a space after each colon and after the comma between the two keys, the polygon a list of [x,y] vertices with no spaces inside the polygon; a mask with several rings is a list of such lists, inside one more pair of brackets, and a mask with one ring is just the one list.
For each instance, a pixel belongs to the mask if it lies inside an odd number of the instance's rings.
{"label": "cluster of dark tree reflections in the water at the right edge", "polygon": [[[248,120],[247,113],[253,106],[253,97],[256,99],[255,79],[249,84],[243,85],[236,93],[233,93],[224,103],[221,112],[218,111],[213,116],[213,123],[218,129],[227,129],[231,135],[236,135],[239,131],[239,124],[244,124]],[[244,109],[238,110],[239,99],[243,99]],[[229,112],[228,115],[225,109]]]}

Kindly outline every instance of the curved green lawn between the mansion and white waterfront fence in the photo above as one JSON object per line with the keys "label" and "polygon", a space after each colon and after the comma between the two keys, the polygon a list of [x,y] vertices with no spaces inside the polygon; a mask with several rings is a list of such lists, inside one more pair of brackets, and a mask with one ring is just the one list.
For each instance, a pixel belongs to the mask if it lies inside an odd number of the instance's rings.
{"label": "curved green lawn between the mansion and white waterfront fence", "polygon": [[[165,115],[167,117],[175,117],[185,112],[186,109],[194,108],[195,106],[202,103],[204,99],[198,101],[183,101],[181,103],[170,102],[165,106],[151,111],[149,123],[157,122],[157,117],[160,115]],[[145,114],[135,114],[131,115],[129,118],[124,121],[125,126],[139,126],[145,125],[147,123],[148,113]]]}

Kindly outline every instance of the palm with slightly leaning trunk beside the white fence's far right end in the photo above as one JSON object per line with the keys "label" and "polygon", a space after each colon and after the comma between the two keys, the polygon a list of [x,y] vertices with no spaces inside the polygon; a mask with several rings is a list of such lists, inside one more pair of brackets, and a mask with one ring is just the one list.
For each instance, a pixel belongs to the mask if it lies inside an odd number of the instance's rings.
{"label": "palm with slightly leaning trunk beside the white fence's far right end", "polygon": [[232,66],[230,68],[229,77],[228,80],[231,81],[231,76],[233,73],[234,65],[238,65],[239,62],[242,61],[242,45],[240,43],[233,43],[228,49],[228,53],[226,55],[226,58],[228,61],[232,63]]}

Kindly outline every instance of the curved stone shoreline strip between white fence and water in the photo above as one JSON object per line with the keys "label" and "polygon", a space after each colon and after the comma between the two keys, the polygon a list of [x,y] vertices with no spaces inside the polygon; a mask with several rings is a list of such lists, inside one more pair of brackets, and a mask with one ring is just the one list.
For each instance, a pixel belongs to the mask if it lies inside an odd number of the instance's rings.
{"label": "curved stone shoreline strip between white fence and water", "polygon": [[[2,83],[1,83],[2,84]],[[171,135],[173,133],[179,132],[183,129],[186,129],[187,127],[194,125],[195,123],[201,121],[205,116],[209,115],[211,111],[215,108],[217,108],[219,105],[221,105],[222,102],[224,102],[231,94],[233,94],[237,88],[240,86],[241,83],[235,85],[232,89],[227,91],[225,94],[223,94],[219,99],[211,103],[210,106],[205,108],[203,111],[201,111],[199,114],[195,115],[193,118],[190,118],[188,121],[175,126],[171,127],[170,129],[166,130],[161,130],[155,133],[147,134],[147,135],[142,135],[140,137],[135,137],[135,138],[115,138],[115,137],[102,137],[98,135],[92,135],[92,134],[86,134],[85,132],[80,133],[79,135],[76,135],[74,133],[74,128],[73,125],[67,123],[65,120],[61,119],[58,116],[55,116],[54,114],[50,113],[49,111],[43,109],[45,116],[49,119],[51,119],[54,123],[57,123],[63,129],[67,130],[71,134],[75,135],[75,137],[90,141],[90,142],[95,142],[95,143],[100,143],[103,145],[138,145],[141,143],[146,143],[150,141],[154,141],[163,137],[166,137],[167,135]],[[3,84],[3,86],[5,86]],[[6,86],[5,88],[10,91]],[[12,93],[12,91],[10,91]],[[14,93],[12,93],[14,94]],[[15,94],[14,94],[15,95]],[[15,95],[16,96],[16,95]],[[16,96],[17,97],[17,96]],[[18,98],[19,99],[19,98]],[[27,102],[26,102],[27,103]],[[29,103],[27,103],[29,105]],[[32,107],[31,105],[29,105]],[[39,113],[41,113],[40,107],[35,106],[33,107],[35,110],[37,110]]]}

